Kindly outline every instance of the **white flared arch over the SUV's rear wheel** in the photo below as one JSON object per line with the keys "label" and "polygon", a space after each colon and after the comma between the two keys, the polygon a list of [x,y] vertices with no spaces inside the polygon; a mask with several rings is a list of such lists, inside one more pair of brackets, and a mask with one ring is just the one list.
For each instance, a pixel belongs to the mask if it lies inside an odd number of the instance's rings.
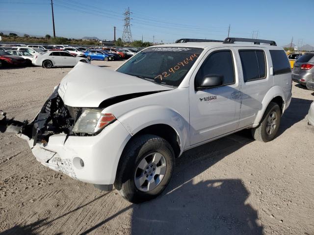
{"label": "white flared arch over the SUV's rear wheel", "polygon": [[277,96],[280,96],[283,99],[284,103],[286,103],[285,92],[282,87],[273,86],[272,88],[270,88],[262,100],[262,109],[257,113],[253,127],[256,127],[260,124],[268,104],[273,98]]}

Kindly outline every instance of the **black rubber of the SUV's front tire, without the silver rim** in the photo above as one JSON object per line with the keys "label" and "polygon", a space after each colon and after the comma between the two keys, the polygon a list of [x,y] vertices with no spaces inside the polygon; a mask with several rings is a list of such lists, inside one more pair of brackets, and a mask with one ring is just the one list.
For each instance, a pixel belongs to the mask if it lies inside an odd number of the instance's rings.
{"label": "black rubber of the SUV's front tire, without the silver rim", "polygon": [[[156,188],[141,191],[135,185],[138,164],[148,155],[158,153],[164,157],[166,170]],[[168,141],[155,135],[142,135],[131,140],[121,156],[114,187],[131,203],[141,203],[157,197],[168,185],[175,164],[175,155]],[[155,169],[154,169],[155,170]],[[145,171],[146,172],[146,171]]]}

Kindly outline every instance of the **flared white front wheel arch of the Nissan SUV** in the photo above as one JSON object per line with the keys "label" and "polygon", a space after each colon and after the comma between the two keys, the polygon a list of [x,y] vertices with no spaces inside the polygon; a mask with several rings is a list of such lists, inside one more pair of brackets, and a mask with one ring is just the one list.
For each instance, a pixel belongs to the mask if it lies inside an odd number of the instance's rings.
{"label": "flared white front wheel arch of the Nissan SUV", "polygon": [[180,138],[180,154],[182,154],[187,143],[188,122],[178,112],[168,107],[161,105],[139,107],[123,114],[118,120],[131,136],[151,125],[166,124],[171,126]]}

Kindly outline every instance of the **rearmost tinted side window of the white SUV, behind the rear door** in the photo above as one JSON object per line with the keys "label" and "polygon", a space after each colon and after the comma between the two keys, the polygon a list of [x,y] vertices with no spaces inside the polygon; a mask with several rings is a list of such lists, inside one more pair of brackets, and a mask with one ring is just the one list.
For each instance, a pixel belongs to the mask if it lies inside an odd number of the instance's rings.
{"label": "rearmost tinted side window of the white SUV, behind the rear door", "polygon": [[290,63],[284,50],[269,50],[274,75],[291,72]]}

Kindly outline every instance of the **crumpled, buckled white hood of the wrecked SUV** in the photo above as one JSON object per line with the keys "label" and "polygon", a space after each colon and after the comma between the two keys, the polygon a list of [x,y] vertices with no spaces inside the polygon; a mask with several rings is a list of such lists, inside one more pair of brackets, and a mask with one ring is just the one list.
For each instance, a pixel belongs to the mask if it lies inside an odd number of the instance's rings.
{"label": "crumpled, buckled white hood of the wrecked SUV", "polygon": [[115,96],[167,90],[172,90],[172,88],[78,62],[61,80],[58,94],[65,105],[96,108],[102,101]]}

